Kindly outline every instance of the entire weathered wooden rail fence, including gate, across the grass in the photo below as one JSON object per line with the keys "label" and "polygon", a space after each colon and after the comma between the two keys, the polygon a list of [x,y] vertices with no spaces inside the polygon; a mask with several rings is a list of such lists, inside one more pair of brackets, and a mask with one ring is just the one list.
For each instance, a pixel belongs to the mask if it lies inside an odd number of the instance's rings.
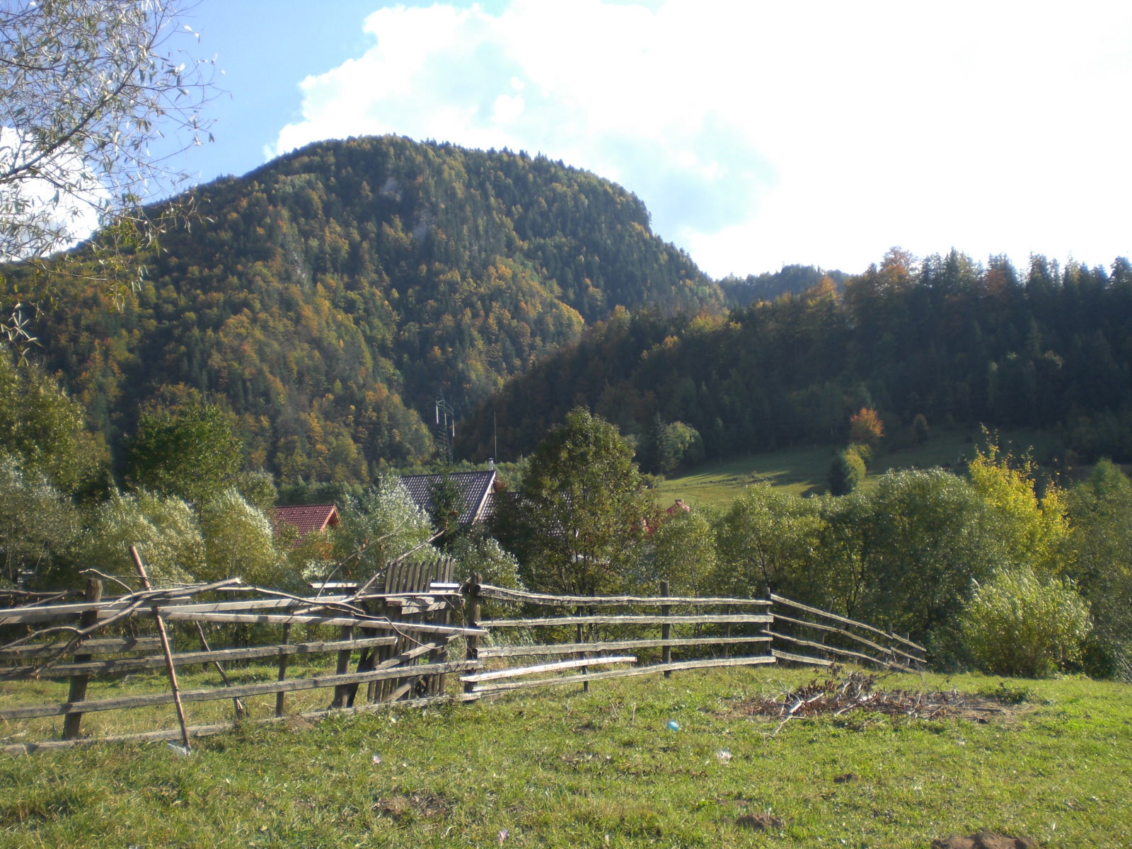
{"label": "entire weathered wooden rail fence, including gate, across the grass", "polygon": [[[140,567],[139,567],[140,568]],[[475,576],[453,582],[452,561],[398,564],[381,589],[326,584],[309,597],[256,591],[238,582],[143,590],[102,600],[92,582],[78,603],[40,603],[0,610],[0,683],[67,684],[66,701],[24,703],[9,684],[0,694],[0,738],[8,753],[86,743],[84,717],[173,705],[178,727],[129,734],[102,734],[102,740],[180,740],[288,717],[317,718],[332,711],[368,711],[391,704],[474,701],[532,687],[581,685],[640,675],[670,676],[677,670],[769,664],[779,661],[831,666],[872,663],[889,669],[924,666],[923,646],[846,617],[779,595],[767,599],[544,595],[480,584]],[[327,591],[334,594],[323,594]],[[216,595],[224,600],[212,600]],[[200,601],[200,597],[209,600]],[[482,618],[486,610],[490,618]],[[462,624],[449,624],[458,612]],[[151,625],[147,626],[146,623]],[[258,645],[214,649],[204,625],[243,627],[268,637]],[[117,626],[118,633],[108,627]],[[24,634],[11,638],[14,629]],[[153,633],[142,633],[152,632]],[[172,636],[170,636],[170,632]],[[108,634],[113,634],[108,635]],[[301,636],[301,638],[297,638]],[[449,659],[453,641],[464,657]],[[288,677],[297,659],[308,666],[325,658],[327,668]],[[220,686],[182,689],[178,671],[208,664]],[[232,664],[241,675],[229,677]],[[255,671],[260,679],[245,683]],[[161,692],[100,693],[131,676],[164,671]],[[263,679],[265,677],[267,679]],[[462,686],[447,681],[457,675]],[[362,685],[366,685],[362,688]],[[288,713],[288,694],[333,691],[328,705],[298,705]],[[60,691],[61,692],[61,691]],[[115,693],[120,692],[114,689]],[[309,696],[310,694],[307,693]],[[12,697],[15,696],[15,698]],[[274,697],[251,715],[246,700]],[[191,724],[185,705],[231,701],[232,718]],[[306,707],[306,709],[305,709]],[[263,714],[268,715],[263,715]],[[62,717],[61,739],[24,741],[16,736],[52,736],[41,726],[17,723]],[[146,717],[165,722],[160,714]],[[143,728],[145,724],[142,726]],[[149,726],[152,727],[152,724]],[[175,744],[174,744],[175,745]]]}

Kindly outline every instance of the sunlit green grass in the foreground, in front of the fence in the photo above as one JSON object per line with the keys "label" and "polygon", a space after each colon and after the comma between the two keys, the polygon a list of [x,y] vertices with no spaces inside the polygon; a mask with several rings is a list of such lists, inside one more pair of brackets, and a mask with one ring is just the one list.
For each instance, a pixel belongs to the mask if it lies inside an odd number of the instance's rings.
{"label": "sunlit green grass in the foreground, in front of the fence", "polygon": [[[778,720],[744,714],[744,700],[813,677],[595,683],[252,728],[187,757],[151,744],[5,758],[0,846],[898,849],[981,829],[1044,848],[1132,844],[1126,685],[1010,681],[1024,703],[986,723],[854,714],[791,720],[775,736]],[[781,825],[748,827],[752,815]]]}

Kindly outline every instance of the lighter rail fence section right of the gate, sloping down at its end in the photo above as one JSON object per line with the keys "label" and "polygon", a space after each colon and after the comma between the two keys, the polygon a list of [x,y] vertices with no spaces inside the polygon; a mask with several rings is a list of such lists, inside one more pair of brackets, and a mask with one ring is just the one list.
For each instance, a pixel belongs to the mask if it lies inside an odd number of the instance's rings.
{"label": "lighter rail fence section right of the gate, sloping down at its end", "polygon": [[[481,666],[461,676],[465,697],[780,660],[893,670],[925,664],[924,648],[909,640],[780,595],[670,597],[664,582],[659,597],[544,595],[481,586],[474,576],[463,591],[465,623],[490,634],[466,641],[469,660]],[[481,619],[484,601],[522,615]],[[799,635],[809,632],[816,632],[812,640]]]}

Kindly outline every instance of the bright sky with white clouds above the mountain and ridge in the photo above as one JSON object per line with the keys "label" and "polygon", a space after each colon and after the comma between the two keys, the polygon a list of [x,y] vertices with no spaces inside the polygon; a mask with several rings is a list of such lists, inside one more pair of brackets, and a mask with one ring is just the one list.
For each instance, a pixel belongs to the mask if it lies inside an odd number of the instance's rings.
{"label": "bright sky with white clouds above the mountain and ridge", "polygon": [[1132,257],[1132,3],[199,0],[242,174],[326,138],[544,154],[715,277],[900,246]]}

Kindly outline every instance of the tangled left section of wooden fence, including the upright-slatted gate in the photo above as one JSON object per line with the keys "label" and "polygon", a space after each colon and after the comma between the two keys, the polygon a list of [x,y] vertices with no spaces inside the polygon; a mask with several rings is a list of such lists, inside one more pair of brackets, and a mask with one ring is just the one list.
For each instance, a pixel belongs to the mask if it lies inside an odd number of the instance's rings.
{"label": "tangled left section of wooden fence, including the upright-slatted gate", "polygon": [[[446,700],[445,676],[477,667],[468,660],[451,661],[449,644],[457,638],[486,634],[479,628],[448,624],[448,611],[458,607],[460,593],[427,592],[432,584],[452,581],[452,561],[398,564],[384,576],[379,591],[360,588],[352,593],[311,597],[264,593],[256,598],[197,601],[200,597],[247,593],[239,581],[174,589],[143,590],[120,598],[101,599],[101,583],[92,581],[83,602],[37,604],[0,610],[0,737],[7,737],[8,753],[57,748],[88,741],[80,732],[84,717],[108,711],[135,711],[173,705],[178,727],[156,731],[103,735],[103,740],[180,740],[187,751],[191,737],[234,728],[245,721],[277,721],[289,715],[316,718],[331,711],[374,710],[393,702],[427,704]],[[152,627],[146,626],[149,621]],[[259,645],[216,650],[208,644],[203,625],[242,626],[260,636],[273,637]],[[111,628],[110,626],[115,626]],[[119,629],[123,635],[101,636]],[[157,632],[142,635],[142,631]],[[16,638],[15,631],[24,634]],[[135,632],[135,633],[128,633]],[[100,634],[100,636],[92,636]],[[301,640],[294,640],[301,634]],[[199,649],[188,650],[196,643]],[[288,666],[297,658],[314,662],[326,658],[333,667],[325,671],[288,677]],[[268,667],[265,661],[274,661]],[[267,680],[233,683],[231,664],[241,671],[254,669]],[[196,664],[209,664],[220,674],[221,686],[182,689],[178,672]],[[225,670],[225,666],[228,669]],[[125,678],[163,670],[163,692],[91,697],[93,681],[103,689]],[[151,676],[152,677],[152,676]],[[25,685],[68,685],[66,701],[22,703],[17,688]],[[361,685],[365,696],[359,697]],[[125,687],[112,687],[120,692]],[[288,713],[288,694],[333,691],[328,706]],[[10,696],[16,696],[12,700]],[[274,698],[271,715],[250,719],[245,700]],[[11,702],[17,702],[12,704]],[[232,702],[231,721],[189,724],[185,705]],[[63,717],[62,739],[11,743],[12,723],[38,718]],[[151,721],[161,721],[156,718]]]}

